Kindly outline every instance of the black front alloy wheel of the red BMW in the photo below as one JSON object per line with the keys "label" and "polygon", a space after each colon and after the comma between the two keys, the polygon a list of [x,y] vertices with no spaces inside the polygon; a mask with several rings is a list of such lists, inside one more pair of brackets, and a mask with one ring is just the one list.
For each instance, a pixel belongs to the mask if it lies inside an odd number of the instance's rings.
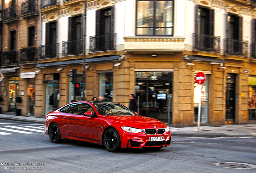
{"label": "black front alloy wheel of the red BMW", "polygon": [[120,149],[120,136],[114,128],[107,129],[104,134],[103,143],[107,151],[116,152]]}

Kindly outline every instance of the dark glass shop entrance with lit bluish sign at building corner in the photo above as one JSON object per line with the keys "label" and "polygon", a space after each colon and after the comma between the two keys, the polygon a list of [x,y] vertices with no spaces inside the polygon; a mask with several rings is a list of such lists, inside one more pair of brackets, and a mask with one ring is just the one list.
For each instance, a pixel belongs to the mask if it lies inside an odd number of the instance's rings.
{"label": "dark glass shop entrance with lit bluish sign at building corner", "polygon": [[172,123],[172,72],[136,72],[139,115]]}

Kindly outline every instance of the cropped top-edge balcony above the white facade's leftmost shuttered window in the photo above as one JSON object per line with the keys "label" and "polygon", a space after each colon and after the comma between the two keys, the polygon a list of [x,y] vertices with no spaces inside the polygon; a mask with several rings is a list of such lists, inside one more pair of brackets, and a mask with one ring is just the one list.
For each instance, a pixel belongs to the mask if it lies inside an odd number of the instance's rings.
{"label": "cropped top-edge balcony above the white facade's leftmost shuttered window", "polygon": [[60,9],[60,0],[41,0],[39,12],[51,12]]}

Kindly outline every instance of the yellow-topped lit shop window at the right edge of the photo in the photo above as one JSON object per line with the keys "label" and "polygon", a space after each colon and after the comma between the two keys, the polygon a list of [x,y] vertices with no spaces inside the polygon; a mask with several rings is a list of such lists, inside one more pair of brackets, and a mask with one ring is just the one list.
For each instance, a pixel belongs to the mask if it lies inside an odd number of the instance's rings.
{"label": "yellow-topped lit shop window at the right edge of the photo", "polygon": [[256,76],[249,76],[248,86],[248,119],[256,120]]}

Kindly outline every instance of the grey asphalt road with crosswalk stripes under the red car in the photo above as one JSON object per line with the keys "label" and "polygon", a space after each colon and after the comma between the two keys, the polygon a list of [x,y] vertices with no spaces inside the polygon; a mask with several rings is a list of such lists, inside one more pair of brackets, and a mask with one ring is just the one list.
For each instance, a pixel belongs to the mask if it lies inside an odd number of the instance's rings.
{"label": "grey asphalt road with crosswalk stripes under the red car", "polygon": [[[81,141],[53,144],[42,127],[42,124],[0,120],[0,173],[256,172],[256,168],[244,169],[256,165],[254,137],[172,137],[169,147],[157,151],[125,149],[110,153],[101,145]],[[226,162],[235,163],[228,164],[232,168],[214,164]]]}

